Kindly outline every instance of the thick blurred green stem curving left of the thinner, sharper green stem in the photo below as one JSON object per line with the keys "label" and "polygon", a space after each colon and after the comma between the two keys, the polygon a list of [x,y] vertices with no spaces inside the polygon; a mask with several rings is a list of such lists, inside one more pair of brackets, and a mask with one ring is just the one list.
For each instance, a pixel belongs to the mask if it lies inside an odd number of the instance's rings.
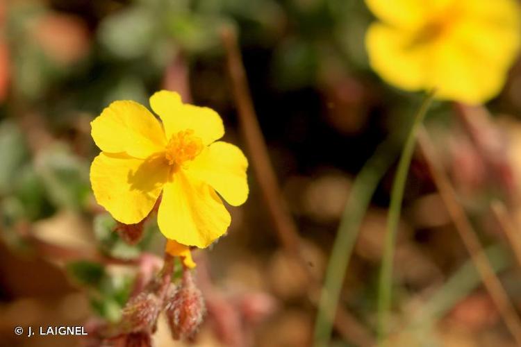
{"label": "thick blurred green stem curving left of the thinner, sharper green stem", "polygon": [[388,139],[378,147],[354,180],[342,219],[340,219],[335,242],[333,242],[324,287],[320,294],[315,321],[315,347],[329,345],[345,271],[360,231],[363,216],[383,174],[397,156],[396,146],[390,142]]}

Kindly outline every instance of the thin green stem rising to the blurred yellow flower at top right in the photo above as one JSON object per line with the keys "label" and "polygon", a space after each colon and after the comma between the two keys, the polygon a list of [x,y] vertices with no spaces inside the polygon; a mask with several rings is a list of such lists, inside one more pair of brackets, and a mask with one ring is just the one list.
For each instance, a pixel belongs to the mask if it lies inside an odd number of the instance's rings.
{"label": "thin green stem rising to the blurred yellow flower at top right", "polygon": [[416,142],[417,129],[422,124],[422,121],[431,105],[434,92],[430,92],[425,97],[422,105],[417,110],[414,116],[411,130],[406,138],[402,157],[398,163],[395,180],[392,183],[392,191],[390,196],[390,206],[387,219],[386,239],[383,245],[383,255],[381,263],[381,271],[378,287],[378,336],[383,339],[388,333],[388,316],[391,304],[391,288],[392,288],[392,262],[395,257],[395,242],[402,210],[402,199],[404,197],[405,183],[411,158]]}

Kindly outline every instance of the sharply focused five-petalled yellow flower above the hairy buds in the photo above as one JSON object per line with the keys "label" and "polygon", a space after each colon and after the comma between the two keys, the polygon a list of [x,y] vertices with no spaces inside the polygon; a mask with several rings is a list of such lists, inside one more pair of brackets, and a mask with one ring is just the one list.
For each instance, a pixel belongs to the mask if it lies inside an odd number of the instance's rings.
{"label": "sharply focused five-petalled yellow flower above the hairy buds", "polygon": [[216,192],[230,205],[246,201],[248,162],[236,146],[217,141],[224,135],[217,112],[165,90],[150,105],[163,126],[134,101],[115,101],[92,121],[101,153],[90,182],[99,205],[125,224],[147,217],[163,193],[159,229],[171,240],[167,251],[186,260],[188,246],[205,248],[230,225]]}

